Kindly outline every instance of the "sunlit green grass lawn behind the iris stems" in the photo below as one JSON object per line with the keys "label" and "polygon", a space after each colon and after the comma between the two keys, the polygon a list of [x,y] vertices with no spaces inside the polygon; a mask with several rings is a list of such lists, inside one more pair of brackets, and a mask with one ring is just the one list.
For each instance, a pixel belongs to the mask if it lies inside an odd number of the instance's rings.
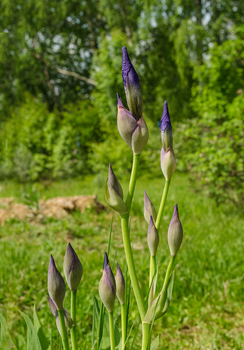
{"label": "sunlit green grass lawn behind the iris stems", "polygon": [[[88,176],[54,182],[46,189],[39,184],[37,190],[41,198],[97,194],[98,199],[105,202],[105,181],[98,176]],[[121,181],[121,185],[126,195],[128,183]],[[163,185],[163,177],[148,179],[139,176],[132,204],[131,240],[144,296],[147,294],[149,274],[147,224],[143,217],[144,188],[158,210]],[[0,196],[15,196],[18,202],[22,200],[23,190],[21,185],[13,182],[0,183]],[[160,333],[159,349],[243,349],[243,214],[233,210],[233,207],[216,207],[214,201],[193,190],[187,175],[176,173],[170,184],[159,232],[158,286],[162,286],[169,262],[167,230],[175,203],[178,204],[184,237],[175,263],[172,300],[167,313],[155,321],[153,338]],[[82,282],[77,293],[78,345],[81,348],[89,334],[87,349],[91,348],[91,292],[94,290],[99,298],[98,283],[102,276],[112,214],[113,211],[109,209],[99,215],[87,210],[83,214],[75,212],[61,220],[49,218],[30,222],[26,219],[22,222],[12,219],[0,228],[0,312],[7,319],[19,350],[26,349],[27,329],[18,310],[32,319],[34,303],[43,328],[47,329],[47,337],[50,337],[51,328],[56,337],[55,319],[47,302],[47,272],[50,254],[53,254],[62,272],[63,256],[69,241],[83,265]],[[120,217],[115,213],[111,261],[120,240]],[[117,261],[123,270],[125,257],[122,243]],[[115,273],[115,266],[113,270]],[[69,309],[68,290],[65,305]],[[133,298],[131,305],[130,325],[138,320]],[[119,313],[120,306],[116,300],[114,316],[118,318],[118,325]],[[138,341],[134,349],[139,348]],[[56,349],[56,345],[53,349]]]}

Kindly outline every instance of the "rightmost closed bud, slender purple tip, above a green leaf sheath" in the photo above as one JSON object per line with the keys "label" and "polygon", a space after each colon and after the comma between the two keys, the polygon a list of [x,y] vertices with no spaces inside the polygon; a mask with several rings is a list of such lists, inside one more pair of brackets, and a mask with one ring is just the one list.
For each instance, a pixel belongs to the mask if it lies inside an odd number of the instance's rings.
{"label": "rightmost closed bud, slender purple tip, above a green leaf sheath", "polygon": [[174,207],[174,214],[169,224],[168,243],[172,257],[175,257],[183,239],[183,228],[179,219],[177,204]]}

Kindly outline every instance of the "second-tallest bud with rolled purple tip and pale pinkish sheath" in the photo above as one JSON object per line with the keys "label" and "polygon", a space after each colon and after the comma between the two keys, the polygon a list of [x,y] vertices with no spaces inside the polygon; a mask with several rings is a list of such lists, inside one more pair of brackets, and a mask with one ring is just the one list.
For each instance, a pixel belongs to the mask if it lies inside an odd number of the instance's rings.
{"label": "second-tallest bud with rolled purple tip and pale pinkish sheath", "polygon": [[161,139],[162,139],[162,149],[161,149],[161,169],[165,179],[167,181],[171,180],[172,175],[175,172],[176,162],[173,151],[173,136],[172,136],[172,125],[169,117],[169,110],[167,101],[165,101],[163,106],[163,115],[161,118]]}

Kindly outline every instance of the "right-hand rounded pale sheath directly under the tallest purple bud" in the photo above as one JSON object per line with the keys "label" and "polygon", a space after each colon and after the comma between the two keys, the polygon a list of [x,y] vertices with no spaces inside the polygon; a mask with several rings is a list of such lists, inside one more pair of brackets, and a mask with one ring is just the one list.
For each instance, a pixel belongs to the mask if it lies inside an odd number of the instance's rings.
{"label": "right-hand rounded pale sheath directly under the tallest purple bud", "polygon": [[131,132],[131,148],[133,154],[141,154],[149,137],[147,124],[141,117]]}

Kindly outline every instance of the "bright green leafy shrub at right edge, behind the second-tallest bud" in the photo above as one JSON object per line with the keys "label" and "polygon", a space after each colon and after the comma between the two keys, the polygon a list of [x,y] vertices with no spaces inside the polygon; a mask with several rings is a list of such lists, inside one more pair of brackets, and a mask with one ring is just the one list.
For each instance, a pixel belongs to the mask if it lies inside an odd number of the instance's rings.
{"label": "bright green leafy shrub at right edge, behind the second-tallest bud", "polygon": [[244,26],[233,35],[235,40],[215,44],[195,69],[192,106],[200,118],[180,124],[175,139],[180,168],[200,177],[218,202],[230,199],[243,207]]}

